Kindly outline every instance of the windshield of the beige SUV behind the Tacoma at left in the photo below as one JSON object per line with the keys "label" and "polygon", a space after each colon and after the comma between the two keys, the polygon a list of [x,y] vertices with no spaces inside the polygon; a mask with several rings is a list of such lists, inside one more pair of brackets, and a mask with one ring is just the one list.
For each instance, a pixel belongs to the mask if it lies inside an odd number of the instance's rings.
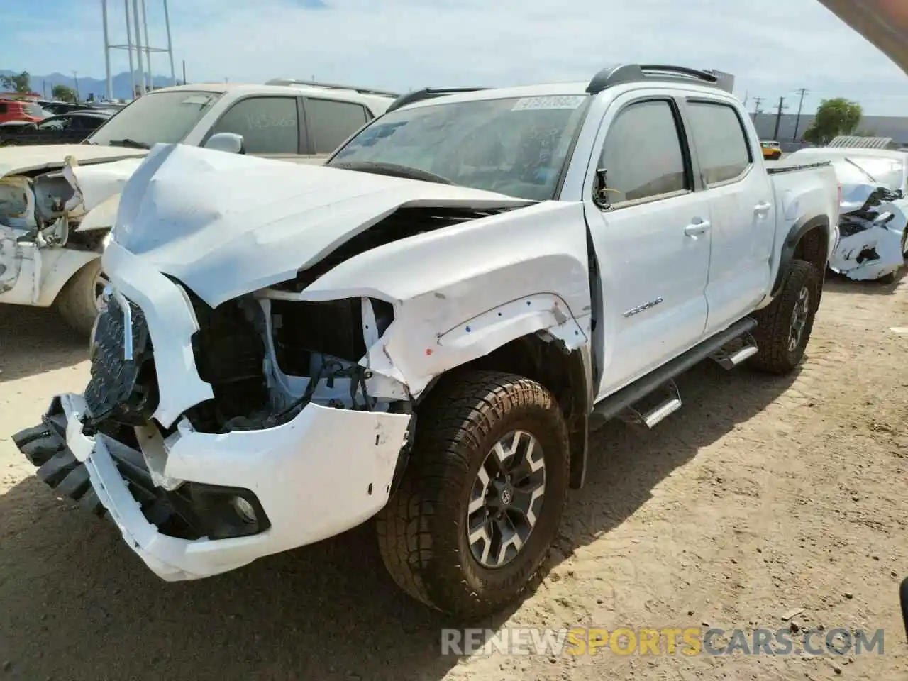
{"label": "windshield of the beige SUV behind the Tacoma at left", "polygon": [[183,142],[195,123],[222,95],[192,90],[144,94],[124,106],[86,140],[90,144],[125,143],[151,149],[156,143]]}

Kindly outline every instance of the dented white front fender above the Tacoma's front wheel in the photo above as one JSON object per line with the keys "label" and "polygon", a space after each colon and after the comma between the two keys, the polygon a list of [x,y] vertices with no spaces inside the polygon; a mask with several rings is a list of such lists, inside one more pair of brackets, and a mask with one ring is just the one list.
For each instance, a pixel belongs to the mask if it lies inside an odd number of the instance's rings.
{"label": "dented white front fender above the Tacoma's front wheel", "polygon": [[389,301],[394,321],[360,364],[414,397],[439,374],[542,333],[590,339],[587,231],[579,203],[543,202],[360,253],[311,283],[309,301]]}

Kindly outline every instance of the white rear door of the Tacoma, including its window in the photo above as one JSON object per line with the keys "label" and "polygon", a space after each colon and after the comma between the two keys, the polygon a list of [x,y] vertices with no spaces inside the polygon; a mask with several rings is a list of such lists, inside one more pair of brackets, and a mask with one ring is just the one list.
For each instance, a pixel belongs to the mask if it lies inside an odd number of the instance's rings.
{"label": "white rear door of the Tacoma, including its window", "polygon": [[775,195],[743,109],[693,97],[685,108],[712,215],[706,284],[706,334],[711,335],[753,310],[769,286]]}

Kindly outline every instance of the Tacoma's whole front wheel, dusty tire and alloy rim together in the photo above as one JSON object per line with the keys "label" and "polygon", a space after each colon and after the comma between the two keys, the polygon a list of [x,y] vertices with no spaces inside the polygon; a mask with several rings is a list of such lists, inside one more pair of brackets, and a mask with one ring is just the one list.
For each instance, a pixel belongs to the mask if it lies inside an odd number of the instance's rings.
{"label": "Tacoma's whole front wheel, dusty tire and alloy rim together", "polygon": [[381,557],[411,597],[479,618],[514,601],[558,534],[568,429],[536,381],[446,377],[419,410],[400,487],[377,517]]}

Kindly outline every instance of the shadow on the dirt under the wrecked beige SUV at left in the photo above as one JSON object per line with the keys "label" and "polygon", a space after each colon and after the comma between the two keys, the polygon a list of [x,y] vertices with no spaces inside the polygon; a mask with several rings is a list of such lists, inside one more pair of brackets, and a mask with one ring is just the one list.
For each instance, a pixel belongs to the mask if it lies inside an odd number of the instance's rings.
{"label": "shadow on the dirt under the wrecked beige SUV at left", "polygon": [[0,382],[71,367],[88,359],[88,339],[54,310],[0,305]]}

